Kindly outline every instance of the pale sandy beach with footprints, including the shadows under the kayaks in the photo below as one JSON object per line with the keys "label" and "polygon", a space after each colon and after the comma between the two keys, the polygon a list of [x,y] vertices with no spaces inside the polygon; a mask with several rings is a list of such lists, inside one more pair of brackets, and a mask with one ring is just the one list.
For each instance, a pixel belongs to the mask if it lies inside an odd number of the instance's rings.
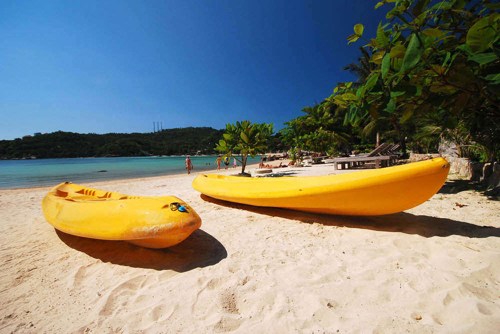
{"label": "pale sandy beach with footprints, including the shadows under the kayaks", "polygon": [[85,184],[189,203],[201,228],[160,250],[54,230],[48,187],[0,190],[0,333],[498,333],[500,202],[459,175],[347,217],[214,200],[193,172]]}

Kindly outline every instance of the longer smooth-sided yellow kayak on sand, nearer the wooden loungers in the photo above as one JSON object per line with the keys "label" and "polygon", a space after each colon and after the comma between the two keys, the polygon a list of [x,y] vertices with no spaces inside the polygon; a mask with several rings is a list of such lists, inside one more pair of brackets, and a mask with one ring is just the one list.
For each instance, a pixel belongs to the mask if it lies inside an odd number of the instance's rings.
{"label": "longer smooth-sided yellow kayak on sand, nearer the wooden loungers", "polygon": [[446,180],[443,158],[353,173],[244,178],[198,175],[192,187],[224,201],[334,215],[385,215],[415,207]]}

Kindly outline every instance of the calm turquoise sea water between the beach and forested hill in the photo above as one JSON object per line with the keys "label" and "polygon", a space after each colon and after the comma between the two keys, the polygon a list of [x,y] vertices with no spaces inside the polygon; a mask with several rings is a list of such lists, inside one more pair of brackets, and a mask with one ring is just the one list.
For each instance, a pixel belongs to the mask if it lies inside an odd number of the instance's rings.
{"label": "calm turquoise sea water between the beach and forested hill", "polygon": [[[64,181],[92,182],[186,173],[185,156],[0,160],[0,189],[52,186]],[[194,172],[216,169],[216,156],[191,156]],[[260,156],[247,164],[260,161]],[[210,165],[207,165],[207,164]],[[224,168],[224,164],[221,164]],[[232,158],[230,161],[232,168]],[[99,172],[105,170],[105,172]],[[235,171],[240,172],[241,166]]]}

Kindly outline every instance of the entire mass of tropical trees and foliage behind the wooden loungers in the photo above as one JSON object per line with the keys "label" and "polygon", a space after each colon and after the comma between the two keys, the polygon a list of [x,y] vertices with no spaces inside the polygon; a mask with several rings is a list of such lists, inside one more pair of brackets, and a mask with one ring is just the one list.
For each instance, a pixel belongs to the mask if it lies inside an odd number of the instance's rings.
{"label": "entire mass of tropical trees and foliage behind the wooden loungers", "polygon": [[340,82],[320,104],[286,123],[293,148],[337,154],[379,144],[433,153],[454,144],[460,157],[500,158],[500,3],[383,0],[374,36],[354,25],[347,44],[364,40]]}

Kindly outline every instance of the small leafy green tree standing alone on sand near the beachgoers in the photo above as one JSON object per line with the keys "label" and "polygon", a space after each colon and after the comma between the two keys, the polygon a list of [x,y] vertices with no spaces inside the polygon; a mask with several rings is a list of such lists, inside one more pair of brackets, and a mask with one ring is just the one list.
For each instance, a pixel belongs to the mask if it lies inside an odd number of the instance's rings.
{"label": "small leafy green tree standing alone on sand near the beachgoers", "polygon": [[[225,130],[215,150],[224,153],[223,158],[234,157],[241,163],[241,174],[245,174],[248,155],[255,158],[255,155],[267,149],[268,141],[274,133],[274,125],[241,121],[236,124],[227,123]],[[234,156],[235,153],[239,153],[239,159]]]}

